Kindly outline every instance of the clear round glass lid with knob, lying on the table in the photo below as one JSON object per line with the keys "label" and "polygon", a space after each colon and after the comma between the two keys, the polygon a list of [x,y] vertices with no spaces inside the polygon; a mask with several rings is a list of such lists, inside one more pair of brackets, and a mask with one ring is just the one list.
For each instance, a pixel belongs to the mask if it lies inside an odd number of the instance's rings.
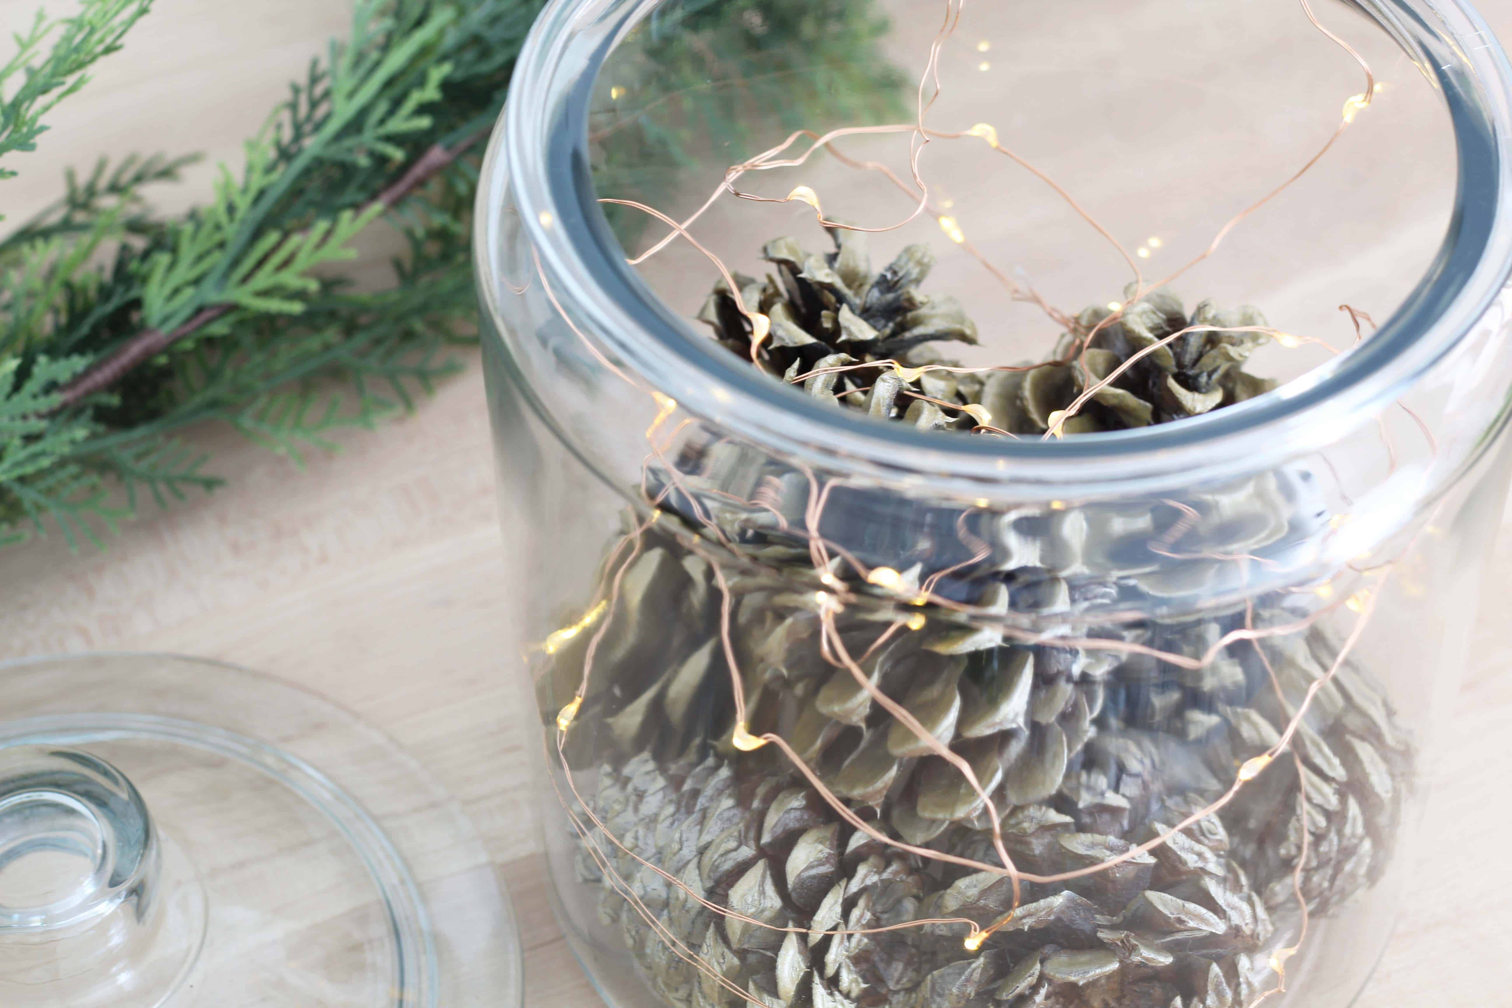
{"label": "clear round glass lid with knob, lying on the table", "polygon": [[520,1005],[457,802],[314,694],[157,654],[0,666],[0,1005]]}

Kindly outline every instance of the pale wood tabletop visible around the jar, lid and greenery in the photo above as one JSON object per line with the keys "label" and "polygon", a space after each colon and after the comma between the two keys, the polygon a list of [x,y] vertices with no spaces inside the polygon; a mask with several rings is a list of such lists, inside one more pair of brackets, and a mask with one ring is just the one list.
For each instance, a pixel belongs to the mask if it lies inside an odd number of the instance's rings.
{"label": "pale wood tabletop visible around the jar, lid and greenery", "polygon": [[[17,27],[35,3],[0,0],[0,27]],[[41,150],[15,159],[23,175],[0,183],[8,218],[45,203],[62,166],[88,166],[103,151],[200,150],[234,165],[284,82],[348,18],[348,0],[157,8],[53,116]],[[1512,32],[1512,0],[1483,9]],[[192,169],[160,204],[203,198],[209,171]],[[472,816],[514,898],[528,1003],[597,1003],[555,928],[534,854],[525,737],[511,709],[510,543],[496,523],[476,360],[416,416],[346,437],[339,455],[304,472],[225,431],[194,440],[215,452],[228,488],[147,511],[106,553],[70,555],[57,538],[0,552],[0,654],[203,654],[333,697],[399,739]],[[1512,884],[1497,867],[1512,842],[1512,536],[1486,585],[1412,854],[1414,892],[1364,1005],[1512,1002],[1501,963]]]}

